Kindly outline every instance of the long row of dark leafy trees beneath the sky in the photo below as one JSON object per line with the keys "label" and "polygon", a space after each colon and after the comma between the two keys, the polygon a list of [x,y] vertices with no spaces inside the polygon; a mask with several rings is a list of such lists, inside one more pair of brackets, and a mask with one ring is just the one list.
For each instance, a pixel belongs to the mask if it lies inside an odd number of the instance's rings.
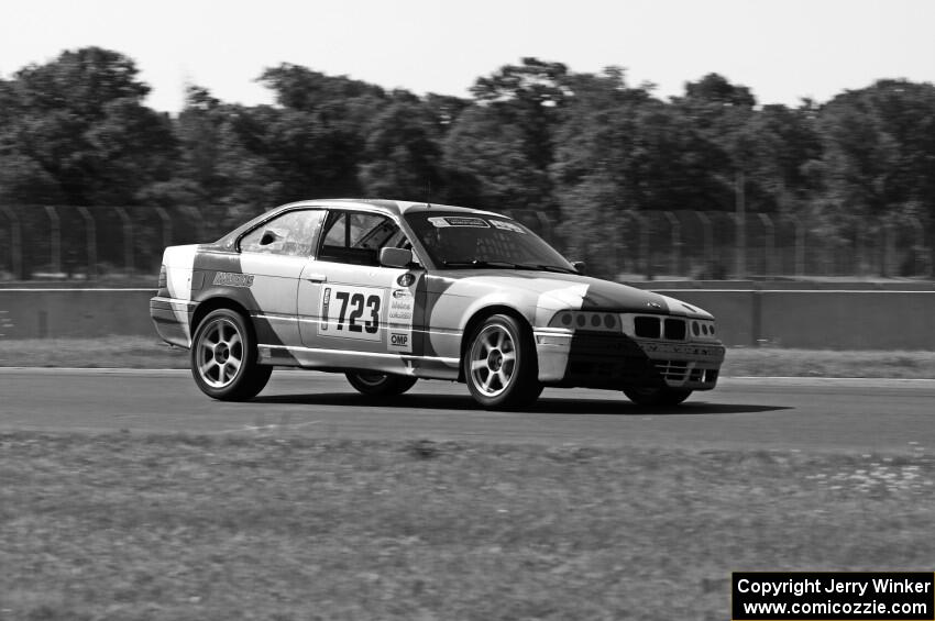
{"label": "long row of dark leafy trees beneath the sky", "polygon": [[323,197],[527,209],[600,266],[625,213],[794,214],[827,235],[913,219],[935,265],[935,86],[883,79],[827,102],[758,104],[718,74],[663,100],[624,69],[522,58],[468,98],[387,90],[283,64],[275,106],[189,86],[177,115],[144,103],[134,62],[67,51],[0,80],[0,203],[196,207],[230,225]]}

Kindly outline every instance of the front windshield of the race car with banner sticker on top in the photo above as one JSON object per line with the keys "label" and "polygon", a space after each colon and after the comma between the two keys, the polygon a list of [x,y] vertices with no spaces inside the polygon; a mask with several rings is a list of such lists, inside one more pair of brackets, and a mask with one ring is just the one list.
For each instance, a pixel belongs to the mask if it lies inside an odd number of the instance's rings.
{"label": "front windshield of the race car with banner sticker on top", "polygon": [[464,212],[419,211],[406,221],[442,269],[538,269],[575,274],[554,248],[515,220]]}

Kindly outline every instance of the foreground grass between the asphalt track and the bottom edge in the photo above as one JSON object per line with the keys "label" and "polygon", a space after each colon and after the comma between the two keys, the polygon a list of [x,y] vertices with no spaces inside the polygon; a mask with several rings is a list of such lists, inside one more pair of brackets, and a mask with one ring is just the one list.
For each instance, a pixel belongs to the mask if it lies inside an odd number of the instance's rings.
{"label": "foreground grass between the asphalt track and the bottom edge", "polygon": [[728,619],[732,570],[924,569],[935,461],[0,435],[0,618]]}

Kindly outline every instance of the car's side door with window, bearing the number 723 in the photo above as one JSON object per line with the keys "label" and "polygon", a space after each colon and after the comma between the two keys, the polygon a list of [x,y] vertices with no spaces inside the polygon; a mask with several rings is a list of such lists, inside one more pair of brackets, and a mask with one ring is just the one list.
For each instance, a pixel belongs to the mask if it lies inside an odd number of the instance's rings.
{"label": "car's side door with window, bearing the number 723", "polygon": [[[425,271],[380,265],[380,249],[407,243],[388,215],[334,210],[298,295],[302,344],[318,364],[399,370],[417,353],[414,328]],[[422,293],[424,295],[424,293]],[[405,366],[405,365],[404,365]]]}

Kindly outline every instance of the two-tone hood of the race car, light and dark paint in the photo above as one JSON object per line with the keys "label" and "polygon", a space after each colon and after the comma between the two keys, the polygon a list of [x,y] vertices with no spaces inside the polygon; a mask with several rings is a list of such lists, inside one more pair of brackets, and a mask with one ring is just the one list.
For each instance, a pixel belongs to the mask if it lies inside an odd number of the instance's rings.
{"label": "two-tone hood of the race car, light and dark paint", "polygon": [[[485,289],[502,289],[536,298],[536,306],[554,310],[606,310],[711,319],[702,309],[619,282],[578,274],[534,270],[451,270],[440,279],[449,293],[476,297]],[[441,292],[441,291],[439,291]]]}

